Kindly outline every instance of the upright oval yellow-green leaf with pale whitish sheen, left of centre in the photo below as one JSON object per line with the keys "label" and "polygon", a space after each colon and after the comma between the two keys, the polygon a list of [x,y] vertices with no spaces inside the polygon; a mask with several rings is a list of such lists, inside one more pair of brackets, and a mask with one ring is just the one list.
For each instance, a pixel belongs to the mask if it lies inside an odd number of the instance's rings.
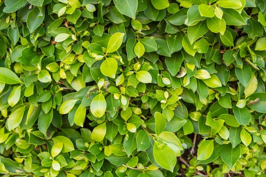
{"label": "upright oval yellow-green leaf with pale whitish sheen, left of centre", "polygon": [[90,111],[95,117],[102,117],[106,110],[106,101],[102,94],[98,94],[92,99]]}

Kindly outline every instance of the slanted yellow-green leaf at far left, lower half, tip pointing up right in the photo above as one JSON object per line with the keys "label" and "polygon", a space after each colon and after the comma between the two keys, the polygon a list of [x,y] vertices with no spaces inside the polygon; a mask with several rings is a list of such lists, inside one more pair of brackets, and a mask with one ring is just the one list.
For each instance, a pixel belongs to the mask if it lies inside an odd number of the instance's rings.
{"label": "slanted yellow-green leaf at far left, lower half, tip pointing up right", "polygon": [[10,115],[9,118],[7,119],[7,128],[8,130],[12,130],[16,128],[20,122],[22,121],[23,115],[25,111],[25,106],[22,106],[15,111],[13,111]]}

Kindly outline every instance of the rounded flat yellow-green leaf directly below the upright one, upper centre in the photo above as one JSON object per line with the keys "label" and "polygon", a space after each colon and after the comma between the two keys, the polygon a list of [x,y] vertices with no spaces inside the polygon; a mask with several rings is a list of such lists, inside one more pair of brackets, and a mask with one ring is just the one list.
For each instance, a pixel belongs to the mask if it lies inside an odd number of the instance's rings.
{"label": "rounded flat yellow-green leaf directly below the upright one, upper centre", "polygon": [[114,58],[106,58],[100,66],[101,73],[111,78],[116,78],[117,69],[118,63]]}

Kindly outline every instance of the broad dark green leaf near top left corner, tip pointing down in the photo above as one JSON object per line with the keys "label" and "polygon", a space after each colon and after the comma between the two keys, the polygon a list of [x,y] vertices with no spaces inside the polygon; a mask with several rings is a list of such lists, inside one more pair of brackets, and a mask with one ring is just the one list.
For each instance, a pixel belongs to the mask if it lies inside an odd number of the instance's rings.
{"label": "broad dark green leaf near top left corner, tip pointing down", "polygon": [[37,29],[44,21],[45,11],[40,12],[39,8],[34,8],[31,10],[27,17],[27,27],[29,32],[32,33],[35,29]]}

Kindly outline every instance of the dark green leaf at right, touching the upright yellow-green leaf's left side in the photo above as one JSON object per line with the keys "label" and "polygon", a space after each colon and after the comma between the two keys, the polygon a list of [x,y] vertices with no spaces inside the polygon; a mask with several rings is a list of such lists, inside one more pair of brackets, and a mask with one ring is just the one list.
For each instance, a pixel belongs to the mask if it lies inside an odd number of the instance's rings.
{"label": "dark green leaf at right, touching the upright yellow-green leaf's left side", "polygon": [[252,79],[252,70],[248,64],[243,63],[243,67],[235,68],[236,76],[239,81],[246,87]]}

